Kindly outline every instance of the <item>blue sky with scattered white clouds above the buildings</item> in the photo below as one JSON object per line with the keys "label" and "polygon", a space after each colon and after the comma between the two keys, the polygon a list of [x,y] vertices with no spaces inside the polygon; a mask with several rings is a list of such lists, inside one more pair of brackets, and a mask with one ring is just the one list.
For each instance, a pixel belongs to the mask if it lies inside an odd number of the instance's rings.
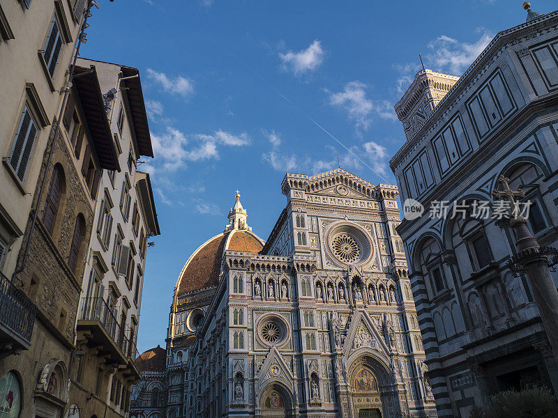
{"label": "blue sky with scattered white clouds above the buildings", "polygon": [[[138,349],[165,346],[176,279],[223,231],[239,189],[264,240],[286,171],[395,183],[393,104],[420,68],[461,75],[522,1],[103,0],[82,56],[139,68],[161,235],[148,250]],[[533,1],[548,13],[555,2]],[[337,156],[336,154],[339,154]]]}

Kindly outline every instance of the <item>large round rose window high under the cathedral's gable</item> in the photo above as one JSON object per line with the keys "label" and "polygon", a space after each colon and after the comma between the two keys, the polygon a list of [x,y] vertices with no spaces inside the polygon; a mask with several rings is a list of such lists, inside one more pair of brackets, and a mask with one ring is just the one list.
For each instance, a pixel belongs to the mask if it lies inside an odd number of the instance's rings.
{"label": "large round rose window high under the cathedral's gable", "polygon": [[360,228],[340,224],[328,233],[329,251],[343,264],[362,264],[372,255],[372,243]]}

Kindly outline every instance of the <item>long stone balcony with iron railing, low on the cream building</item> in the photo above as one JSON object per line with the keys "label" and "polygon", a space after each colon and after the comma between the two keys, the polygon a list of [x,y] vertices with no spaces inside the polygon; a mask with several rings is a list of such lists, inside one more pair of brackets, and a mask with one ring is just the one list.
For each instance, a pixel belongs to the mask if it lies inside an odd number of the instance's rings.
{"label": "long stone balcony with iron railing, low on the cream building", "polygon": [[135,366],[137,357],[135,342],[126,336],[110,307],[102,297],[83,297],[77,319],[78,340],[95,348],[98,356],[105,357],[108,364],[118,364],[128,376],[140,377]]}

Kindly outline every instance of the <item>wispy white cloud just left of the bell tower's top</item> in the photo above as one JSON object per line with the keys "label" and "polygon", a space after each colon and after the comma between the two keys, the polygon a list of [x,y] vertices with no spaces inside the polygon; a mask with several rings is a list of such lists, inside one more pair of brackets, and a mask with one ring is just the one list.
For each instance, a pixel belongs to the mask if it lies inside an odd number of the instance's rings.
{"label": "wispy white cloud just left of the bell tower's top", "polygon": [[374,116],[396,120],[392,104],[388,100],[370,100],[366,97],[366,87],[366,84],[356,80],[347,83],[343,91],[326,92],[329,93],[329,103],[345,109],[357,129],[367,130]]}

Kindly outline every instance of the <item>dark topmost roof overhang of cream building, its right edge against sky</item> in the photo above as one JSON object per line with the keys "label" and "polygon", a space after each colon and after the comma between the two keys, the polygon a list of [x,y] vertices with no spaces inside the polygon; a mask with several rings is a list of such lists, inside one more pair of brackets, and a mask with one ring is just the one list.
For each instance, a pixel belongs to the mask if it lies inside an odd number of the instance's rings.
{"label": "dark topmost roof overhang of cream building, its right edge against sky", "polygon": [[[145,109],[144,93],[142,91],[142,81],[140,71],[137,68],[121,66],[123,78],[122,84],[126,88],[128,107],[132,116],[137,148],[140,155],[153,157],[153,147],[151,146],[151,134],[149,134],[149,123],[147,122],[147,111]],[[137,77],[135,77],[137,76]]]}

